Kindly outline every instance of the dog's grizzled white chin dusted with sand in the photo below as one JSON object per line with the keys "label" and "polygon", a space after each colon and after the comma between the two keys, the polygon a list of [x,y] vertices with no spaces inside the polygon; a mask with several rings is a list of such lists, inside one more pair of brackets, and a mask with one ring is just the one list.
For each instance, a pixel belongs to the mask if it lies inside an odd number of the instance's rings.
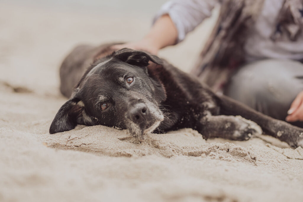
{"label": "dog's grizzled white chin dusted with sand", "polygon": [[144,127],[140,127],[138,124],[131,122],[128,129],[138,141],[142,142],[144,140],[144,135],[154,131],[160,125],[161,121],[163,121],[163,118],[161,120],[155,120]]}

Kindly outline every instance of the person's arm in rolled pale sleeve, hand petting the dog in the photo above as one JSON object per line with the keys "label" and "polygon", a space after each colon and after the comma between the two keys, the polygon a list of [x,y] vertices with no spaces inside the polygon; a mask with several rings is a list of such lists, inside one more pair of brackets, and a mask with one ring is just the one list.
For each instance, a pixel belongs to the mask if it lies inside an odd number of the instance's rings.
{"label": "person's arm in rolled pale sleeve, hand petting the dog", "polygon": [[156,54],[161,48],[181,42],[188,32],[211,16],[216,3],[216,0],[169,1],[161,7],[144,38],[113,48],[141,49]]}

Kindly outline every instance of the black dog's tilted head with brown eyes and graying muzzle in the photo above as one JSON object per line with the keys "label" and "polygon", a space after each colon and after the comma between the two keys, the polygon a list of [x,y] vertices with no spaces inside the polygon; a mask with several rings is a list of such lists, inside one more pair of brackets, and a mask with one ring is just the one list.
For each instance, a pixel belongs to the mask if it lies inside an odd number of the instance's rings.
{"label": "black dog's tilted head with brown eyes and graying muzzle", "polygon": [[158,104],[166,92],[154,76],[161,62],[155,55],[128,48],[98,60],[59,109],[49,132],[72,130],[77,124],[105,125],[129,129],[143,140],[143,134],[163,120]]}

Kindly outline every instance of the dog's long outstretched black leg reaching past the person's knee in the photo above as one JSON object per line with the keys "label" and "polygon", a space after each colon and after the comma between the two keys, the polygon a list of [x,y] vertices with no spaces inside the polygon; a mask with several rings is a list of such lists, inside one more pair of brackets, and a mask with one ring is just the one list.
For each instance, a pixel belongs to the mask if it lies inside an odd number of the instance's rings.
{"label": "dog's long outstretched black leg reaching past the person's knee", "polygon": [[271,118],[227,96],[221,95],[218,96],[218,98],[220,114],[233,116],[240,115],[261,126],[265,134],[285,141],[292,147],[303,146],[303,128]]}

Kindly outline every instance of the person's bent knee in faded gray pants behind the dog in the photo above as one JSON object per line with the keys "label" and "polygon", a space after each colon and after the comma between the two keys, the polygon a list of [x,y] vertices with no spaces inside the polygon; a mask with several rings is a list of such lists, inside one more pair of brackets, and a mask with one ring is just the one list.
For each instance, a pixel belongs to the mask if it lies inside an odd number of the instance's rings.
{"label": "person's bent knee in faded gray pants behind the dog", "polygon": [[[303,64],[267,59],[244,65],[224,94],[276,119],[285,120],[292,101],[303,91]],[[296,125],[303,127],[303,122]]]}

